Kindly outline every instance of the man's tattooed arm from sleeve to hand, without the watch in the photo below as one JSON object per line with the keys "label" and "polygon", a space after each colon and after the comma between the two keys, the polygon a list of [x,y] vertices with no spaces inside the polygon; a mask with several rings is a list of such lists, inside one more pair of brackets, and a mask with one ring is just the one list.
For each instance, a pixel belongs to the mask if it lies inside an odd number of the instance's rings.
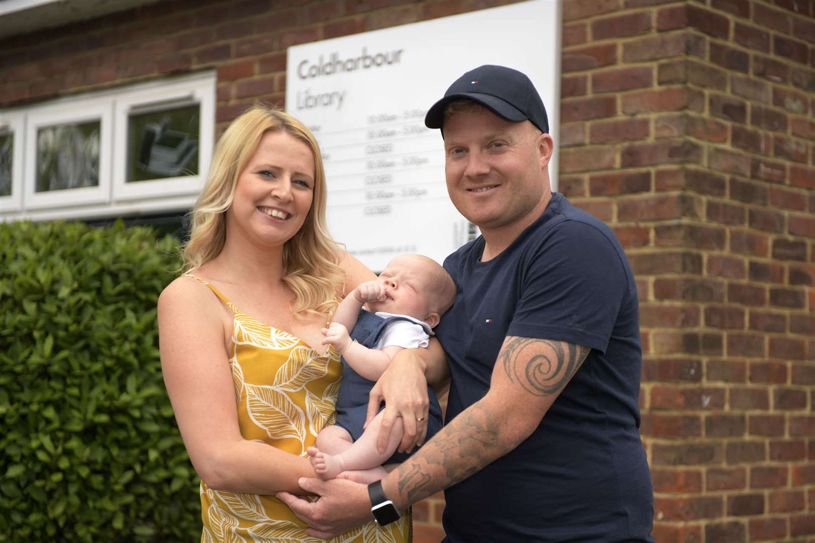
{"label": "man's tattooed arm from sleeve to hand, without the watch", "polygon": [[[385,496],[407,507],[512,451],[540,424],[588,351],[567,342],[505,338],[487,395],[382,479]],[[311,534],[346,532],[370,519],[363,485],[315,479],[300,479],[300,485],[323,499],[307,503],[287,492],[278,497],[311,526]]]}

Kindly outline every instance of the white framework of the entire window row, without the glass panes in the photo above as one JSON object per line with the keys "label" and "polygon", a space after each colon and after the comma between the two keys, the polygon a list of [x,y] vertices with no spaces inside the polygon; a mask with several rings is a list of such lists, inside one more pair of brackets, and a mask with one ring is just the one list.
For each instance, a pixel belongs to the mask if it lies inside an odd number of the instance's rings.
{"label": "white framework of the entire window row, without the glass panes", "polygon": [[[11,196],[0,196],[0,222],[99,219],[192,208],[212,160],[216,84],[215,71],[208,70],[0,111],[0,129],[8,126],[15,135]],[[198,174],[126,183],[130,114],[192,104],[200,107]],[[35,192],[37,130],[96,120],[99,185]]]}

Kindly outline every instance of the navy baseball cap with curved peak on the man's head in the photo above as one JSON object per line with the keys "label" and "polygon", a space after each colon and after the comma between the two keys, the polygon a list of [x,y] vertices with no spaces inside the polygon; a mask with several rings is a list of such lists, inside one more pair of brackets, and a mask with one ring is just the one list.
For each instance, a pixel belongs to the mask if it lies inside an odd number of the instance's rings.
{"label": "navy baseball cap with curved peak on the man's head", "polygon": [[470,70],[455,82],[427,111],[425,126],[442,128],[447,104],[457,99],[469,99],[491,110],[507,121],[525,121],[548,134],[549,120],[544,101],[525,73],[513,68],[485,64]]}

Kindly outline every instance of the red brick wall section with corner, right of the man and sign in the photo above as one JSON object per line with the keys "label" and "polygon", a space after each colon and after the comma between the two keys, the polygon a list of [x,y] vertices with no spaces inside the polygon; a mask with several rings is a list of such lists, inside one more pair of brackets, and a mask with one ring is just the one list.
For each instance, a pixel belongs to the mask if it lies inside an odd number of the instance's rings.
{"label": "red brick wall section with corner, right of the man and sign", "polygon": [[641,298],[658,541],[815,541],[815,3],[564,4],[561,189]]}

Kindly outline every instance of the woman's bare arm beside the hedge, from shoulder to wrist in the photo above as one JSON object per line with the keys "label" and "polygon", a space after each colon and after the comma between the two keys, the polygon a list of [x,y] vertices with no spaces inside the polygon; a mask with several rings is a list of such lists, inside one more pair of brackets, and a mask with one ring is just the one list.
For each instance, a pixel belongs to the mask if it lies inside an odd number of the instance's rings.
{"label": "woman's bare arm beside the hedge, from shoulder to wrist", "polygon": [[214,490],[300,493],[297,478],[315,477],[306,458],[240,435],[226,311],[205,285],[187,278],[174,280],[158,301],[161,371],[192,466]]}

